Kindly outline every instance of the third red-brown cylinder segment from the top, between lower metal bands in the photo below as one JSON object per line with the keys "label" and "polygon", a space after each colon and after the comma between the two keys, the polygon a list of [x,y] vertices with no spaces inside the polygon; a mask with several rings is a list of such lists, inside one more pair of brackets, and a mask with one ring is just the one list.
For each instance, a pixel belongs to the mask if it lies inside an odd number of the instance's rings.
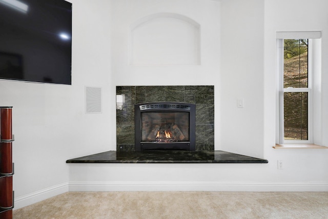
{"label": "third red-brown cylinder segment from the top, between lower metal bands", "polygon": [[12,176],[0,178],[0,207],[12,207]]}

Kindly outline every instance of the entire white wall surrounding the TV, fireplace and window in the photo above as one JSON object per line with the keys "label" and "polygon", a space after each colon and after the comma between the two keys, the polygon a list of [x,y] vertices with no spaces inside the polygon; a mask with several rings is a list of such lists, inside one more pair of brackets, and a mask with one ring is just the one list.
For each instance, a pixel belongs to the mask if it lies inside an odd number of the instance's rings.
{"label": "entire white wall surrounding the TV, fireplace and window", "polygon": [[[275,32],[321,30],[326,60],[325,0],[70,2],[72,86],[0,81],[0,105],[14,107],[16,208],[68,189],[328,190],[328,150],[272,148]],[[180,14],[200,25],[200,65],[129,65],[130,25],[156,13]],[[325,145],[327,65],[321,66]],[[175,79],[154,80],[154,73]],[[65,164],[115,150],[115,86],[128,85],[214,85],[215,149],[266,158],[269,164]],[[85,86],[103,88],[103,113],[85,114]],[[237,98],[244,98],[244,108],[236,107]],[[284,161],[283,170],[277,170],[277,160]]]}

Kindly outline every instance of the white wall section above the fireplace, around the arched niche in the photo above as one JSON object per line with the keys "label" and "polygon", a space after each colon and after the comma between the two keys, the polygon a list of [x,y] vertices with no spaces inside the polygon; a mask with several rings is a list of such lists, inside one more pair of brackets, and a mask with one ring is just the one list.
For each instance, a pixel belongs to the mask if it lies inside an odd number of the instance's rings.
{"label": "white wall section above the fireplace, around the arched niche", "polygon": [[[130,53],[133,53],[130,47],[131,26],[146,16],[153,15],[156,17],[157,14],[161,13],[185,16],[200,25],[200,65],[185,65],[182,61],[170,64],[169,58],[167,58],[167,62],[163,62],[161,65],[151,62],[129,65]],[[112,1],[111,16],[113,85],[218,85],[220,51],[218,2],[198,0]],[[172,31],[170,33],[171,38],[169,33],[166,33],[167,37],[163,38],[163,43],[166,45],[176,43],[174,36],[179,34],[178,24],[183,21],[175,20],[170,21],[169,17],[166,20],[158,21],[158,25],[161,25],[162,28]],[[167,27],[168,24],[175,24],[176,29]],[[158,34],[156,30],[148,31],[149,35]],[[159,47],[163,49],[161,46]],[[177,48],[177,51],[179,49],[181,48]],[[161,56],[160,53],[155,53],[155,55]],[[172,55],[176,54],[173,53]],[[199,77],[199,75],[202,76]]]}

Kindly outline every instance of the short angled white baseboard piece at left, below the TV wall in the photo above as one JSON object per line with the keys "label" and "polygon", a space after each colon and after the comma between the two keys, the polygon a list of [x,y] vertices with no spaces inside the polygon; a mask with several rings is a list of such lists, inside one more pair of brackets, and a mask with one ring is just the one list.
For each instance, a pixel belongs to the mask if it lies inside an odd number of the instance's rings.
{"label": "short angled white baseboard piece at left, below the TV wall", "polygon": [[14,209],[26,207],[34,203],[46,200],[47,198],[63,194],[69,191],[69,183],[62,183],[56,186],[52,186],[46,189],[42,189],[30,194],[22,195],[14,198]]}

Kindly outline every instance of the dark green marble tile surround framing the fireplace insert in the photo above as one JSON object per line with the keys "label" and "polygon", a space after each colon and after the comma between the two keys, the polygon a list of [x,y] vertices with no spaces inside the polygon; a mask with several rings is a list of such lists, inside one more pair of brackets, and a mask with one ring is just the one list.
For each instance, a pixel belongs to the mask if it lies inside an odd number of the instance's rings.
{"label": "dark green marble tile surround framing the fireplace insert", "polygon": [[196,150],[214,150],[214,86],[117,86],[116,95],[122,94],[124,103],[116,103],[117,151],[134,151],[134,104],[165,101],[195,104]]}

